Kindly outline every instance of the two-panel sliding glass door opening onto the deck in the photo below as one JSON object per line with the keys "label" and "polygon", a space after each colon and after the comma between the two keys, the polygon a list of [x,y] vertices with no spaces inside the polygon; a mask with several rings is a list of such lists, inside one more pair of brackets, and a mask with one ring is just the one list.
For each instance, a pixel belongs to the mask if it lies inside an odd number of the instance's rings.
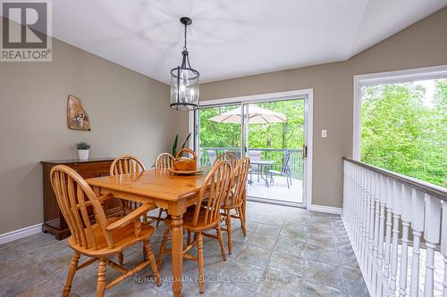
{"label": "two-panel sliding glass door opening onto the deck", "polygon": [[195,118],[202,166],[221,153],[248,156],[249,199],[305,205],[304,98],[201,106]]}

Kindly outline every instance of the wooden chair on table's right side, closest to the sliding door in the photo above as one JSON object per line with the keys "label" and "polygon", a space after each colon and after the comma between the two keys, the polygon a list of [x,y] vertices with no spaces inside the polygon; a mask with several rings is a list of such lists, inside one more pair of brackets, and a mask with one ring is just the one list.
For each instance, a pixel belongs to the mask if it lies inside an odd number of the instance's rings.
{"label": "wooden chair on table's right side, closest to the sliding door", "polygon": [[[247,179],[249,177],[250,159],[248,157],[239,161],[232,170],[231,186],[226,202],[222,205],[225,227],[223,231],[228,235],[228,253],[232,254],[232,219],[240,219],[240,227],[244,236],[247,235],[245,228],[245,216],[242,206],[244,204]],[[235,214],[232,214],[232,210]]]}

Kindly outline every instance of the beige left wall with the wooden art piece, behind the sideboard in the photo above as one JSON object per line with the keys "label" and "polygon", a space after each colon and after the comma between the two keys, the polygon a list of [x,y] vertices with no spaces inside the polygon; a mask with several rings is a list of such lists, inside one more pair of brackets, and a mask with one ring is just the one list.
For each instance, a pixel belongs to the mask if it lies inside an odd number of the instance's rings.
{"label": "beige left wall with the wooden art piece, behind the sideboard", "polygon": [[[76,158],[86,140],[93,158],[131,153],[151,166],[173,142],[167,85],[57,40],[53,52],[53,62],[0,62],[0,234],[42,222],[39,161]],[[91,132],[67,128],[69,94]]]}

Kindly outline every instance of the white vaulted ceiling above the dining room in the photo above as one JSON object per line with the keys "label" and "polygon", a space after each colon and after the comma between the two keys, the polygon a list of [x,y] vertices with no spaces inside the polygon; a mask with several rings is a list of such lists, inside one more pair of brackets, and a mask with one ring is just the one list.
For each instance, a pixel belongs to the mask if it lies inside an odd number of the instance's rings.
{"label": "white vaulted ceiling above the dining room", "polygon": [[349,59],[447,0],[55,0],[53,35],[169,83],[183,28],[201,81]]}

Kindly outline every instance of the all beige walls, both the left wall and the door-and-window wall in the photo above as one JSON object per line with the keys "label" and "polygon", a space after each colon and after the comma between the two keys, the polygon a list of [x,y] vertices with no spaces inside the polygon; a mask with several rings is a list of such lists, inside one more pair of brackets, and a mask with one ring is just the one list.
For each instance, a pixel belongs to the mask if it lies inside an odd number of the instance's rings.
{"label": "all beige walls, both the left wall and the door-and-window wall", "polygon": [[[445,32],[446,8],[347,62],[204,84],[201,100],[314,88],[313,203],[341,207],[353,76],[447,64]],[[75,158],[73,144],[87,140],[93,158],[132,153],[150,165],[176,129],[187,133],[186,114],[168,108],[168,86],[60,41],[53,46],[53,62],[0,62],[0,234],[42,222],[39,161]],[[66,128],[69,94],[82,99],[91,132]]]}

